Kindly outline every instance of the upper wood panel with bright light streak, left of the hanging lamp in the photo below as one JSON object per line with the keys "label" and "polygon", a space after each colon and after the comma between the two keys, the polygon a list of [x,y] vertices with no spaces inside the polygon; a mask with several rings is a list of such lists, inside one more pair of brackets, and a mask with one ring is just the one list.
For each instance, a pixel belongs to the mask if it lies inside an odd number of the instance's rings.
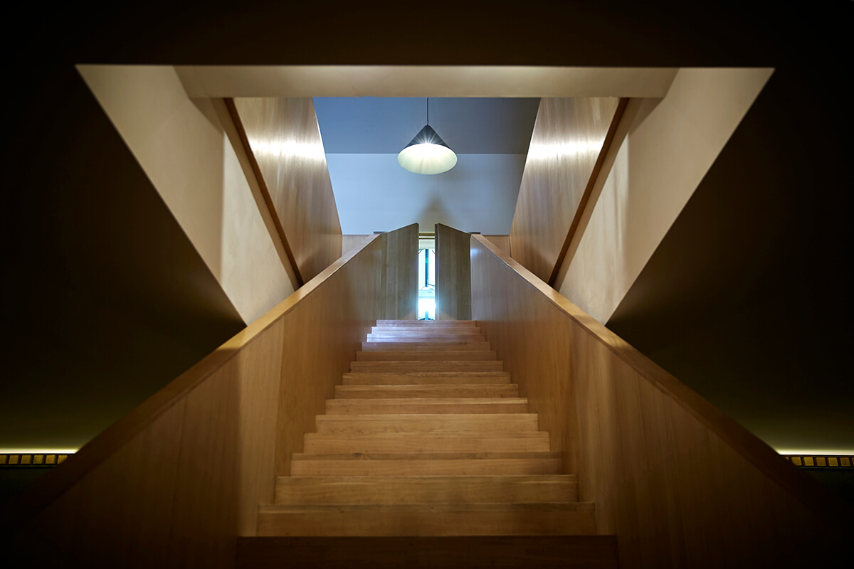
{"label": "upper wood panel with bright light streak, left of the hanging lamp", "polygon": [[307,282],[341,257],[342,250],[341,223],[312,99],[233,102],[295,270]]}

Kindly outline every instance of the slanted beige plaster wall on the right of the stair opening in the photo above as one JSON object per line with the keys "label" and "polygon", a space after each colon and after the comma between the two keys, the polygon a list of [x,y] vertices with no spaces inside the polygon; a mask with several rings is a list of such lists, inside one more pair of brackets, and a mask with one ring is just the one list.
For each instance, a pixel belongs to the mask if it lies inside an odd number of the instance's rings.
{"label": "slanted beige plaster wall on the right of the stair opening", "polygon": [[564,260],[560,293],[608,321],[771,73],[680,69],[664,99],[633,102],[634,123]]}

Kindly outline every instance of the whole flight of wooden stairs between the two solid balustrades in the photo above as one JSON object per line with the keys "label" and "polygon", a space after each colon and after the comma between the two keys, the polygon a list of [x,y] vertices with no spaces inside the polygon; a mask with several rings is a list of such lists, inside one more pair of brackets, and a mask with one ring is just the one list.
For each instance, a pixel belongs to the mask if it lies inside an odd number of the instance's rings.
{"label": "whole flight of wooden stairs between the two solid balustrades", "polygon": [[[556,552],[590,543],[605,564],[589,566],[616,566],[613,539],[579,541],[595,534],[594,504],[578,502],[576,476],[562,472],[560,453],[475,322],[377,322],[292,458],[275,503],[260,506],[259,536],[362,549],[381,538],[500,536],[506,549],[513,537],[574,536]],[[335,541],[345,537],[373,541]],[[272,562],[277,543],[308,542],[246,538],[240,562]],[[487,542],[463,543],[442,542],[440,565],[477,566],[466,555]]]}

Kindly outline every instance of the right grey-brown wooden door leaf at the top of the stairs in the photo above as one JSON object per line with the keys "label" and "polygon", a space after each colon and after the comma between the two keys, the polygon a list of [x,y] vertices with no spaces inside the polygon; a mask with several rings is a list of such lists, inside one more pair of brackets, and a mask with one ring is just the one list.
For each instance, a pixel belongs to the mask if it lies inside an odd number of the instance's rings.
{"label": "right grey-brown wooden door leaf at the top of the stairs", "polygon": [[436,320],[471,320],[471,234],[436,224]]}

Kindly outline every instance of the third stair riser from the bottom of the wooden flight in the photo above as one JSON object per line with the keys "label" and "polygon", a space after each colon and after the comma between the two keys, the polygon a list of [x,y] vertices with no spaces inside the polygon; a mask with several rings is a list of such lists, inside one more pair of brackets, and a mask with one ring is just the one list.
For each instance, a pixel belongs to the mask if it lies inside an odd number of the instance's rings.
{"label": "third stair riser from the bottom of the wooden flight", "polygon": [[570,503],[577,487],[570,476],[280,477],[276,503],[428,504]]}

